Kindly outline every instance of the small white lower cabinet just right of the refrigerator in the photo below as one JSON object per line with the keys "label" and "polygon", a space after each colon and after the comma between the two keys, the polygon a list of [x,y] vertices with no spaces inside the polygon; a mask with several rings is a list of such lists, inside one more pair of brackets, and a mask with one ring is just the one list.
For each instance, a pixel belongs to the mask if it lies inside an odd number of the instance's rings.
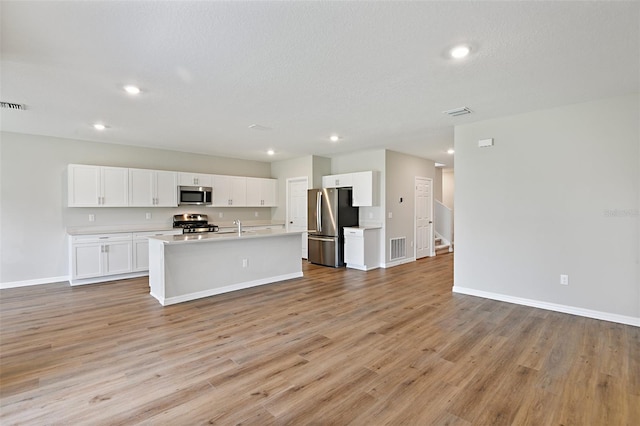
{"label": "small white lower cabinet just right of the refrigerator", "polygon": [[344,228],[347,268],[368,271],[380,266],[380,228]]}

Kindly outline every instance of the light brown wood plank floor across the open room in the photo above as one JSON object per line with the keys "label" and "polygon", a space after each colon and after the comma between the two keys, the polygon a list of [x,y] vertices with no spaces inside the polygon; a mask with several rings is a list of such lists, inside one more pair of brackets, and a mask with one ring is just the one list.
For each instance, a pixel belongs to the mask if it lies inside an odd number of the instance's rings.
{"label": "light brown wood plank floor across the open room", "polygon": [[2,290],[0,423],[640,424],[640,328],[454,295],[452,263],[164,308],[146,279]]}

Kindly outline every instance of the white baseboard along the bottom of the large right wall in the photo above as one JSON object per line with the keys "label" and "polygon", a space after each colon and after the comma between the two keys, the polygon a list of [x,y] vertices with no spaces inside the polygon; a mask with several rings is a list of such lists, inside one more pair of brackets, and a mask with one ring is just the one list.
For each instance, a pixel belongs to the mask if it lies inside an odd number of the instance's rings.
{"label": "white baseboard along the bottom of the large right wall", "polygon": [[514,303],[516,305],[531,306],[533,308],[546,309],[548,311],[562,312],[565,314],[578,315],[586,318],[594,318],[603,321],[610,321],[640,327],[640,317],[630,317],[626,315],[612,314],[609,312],[594,311],[592,309],[577,308],[575,306],[560,305],[558,303],[542,302],[540,300],[507,296],[504,294],[491,293],[488,291],[475,290],[472,288],[459,286],[453,286],[453,292],[459,294],[467,294],[469,296],[484,297],[485,299],[498,300],[500,302]]}

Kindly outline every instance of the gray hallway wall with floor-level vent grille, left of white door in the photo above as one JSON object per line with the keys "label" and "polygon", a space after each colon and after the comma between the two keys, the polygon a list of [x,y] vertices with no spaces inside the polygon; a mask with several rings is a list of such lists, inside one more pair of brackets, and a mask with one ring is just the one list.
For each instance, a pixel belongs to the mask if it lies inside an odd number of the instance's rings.
{"label": "gray hallway wall with floor-level vent grille, left of white door", "polygon": [[[385,261],[389,262],[389,240],[407,238],[407,257],[414,255],[415,178],[435,178],[435,163],[395,151],[386,156]],[[400,202],[402,198],[402,202]],[[389,213],[392,218],[389,218]]]}

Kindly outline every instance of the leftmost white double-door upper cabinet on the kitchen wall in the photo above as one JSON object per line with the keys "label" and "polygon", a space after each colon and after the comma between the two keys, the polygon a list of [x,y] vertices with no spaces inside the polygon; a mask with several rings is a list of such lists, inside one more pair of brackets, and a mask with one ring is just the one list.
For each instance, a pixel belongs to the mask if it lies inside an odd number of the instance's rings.
{"label": "leftmost white double-door upper cabinet on the kitchen wall", "polygon": [[129,205],[129,169],[70,164],[67,173],[69,207]]}

